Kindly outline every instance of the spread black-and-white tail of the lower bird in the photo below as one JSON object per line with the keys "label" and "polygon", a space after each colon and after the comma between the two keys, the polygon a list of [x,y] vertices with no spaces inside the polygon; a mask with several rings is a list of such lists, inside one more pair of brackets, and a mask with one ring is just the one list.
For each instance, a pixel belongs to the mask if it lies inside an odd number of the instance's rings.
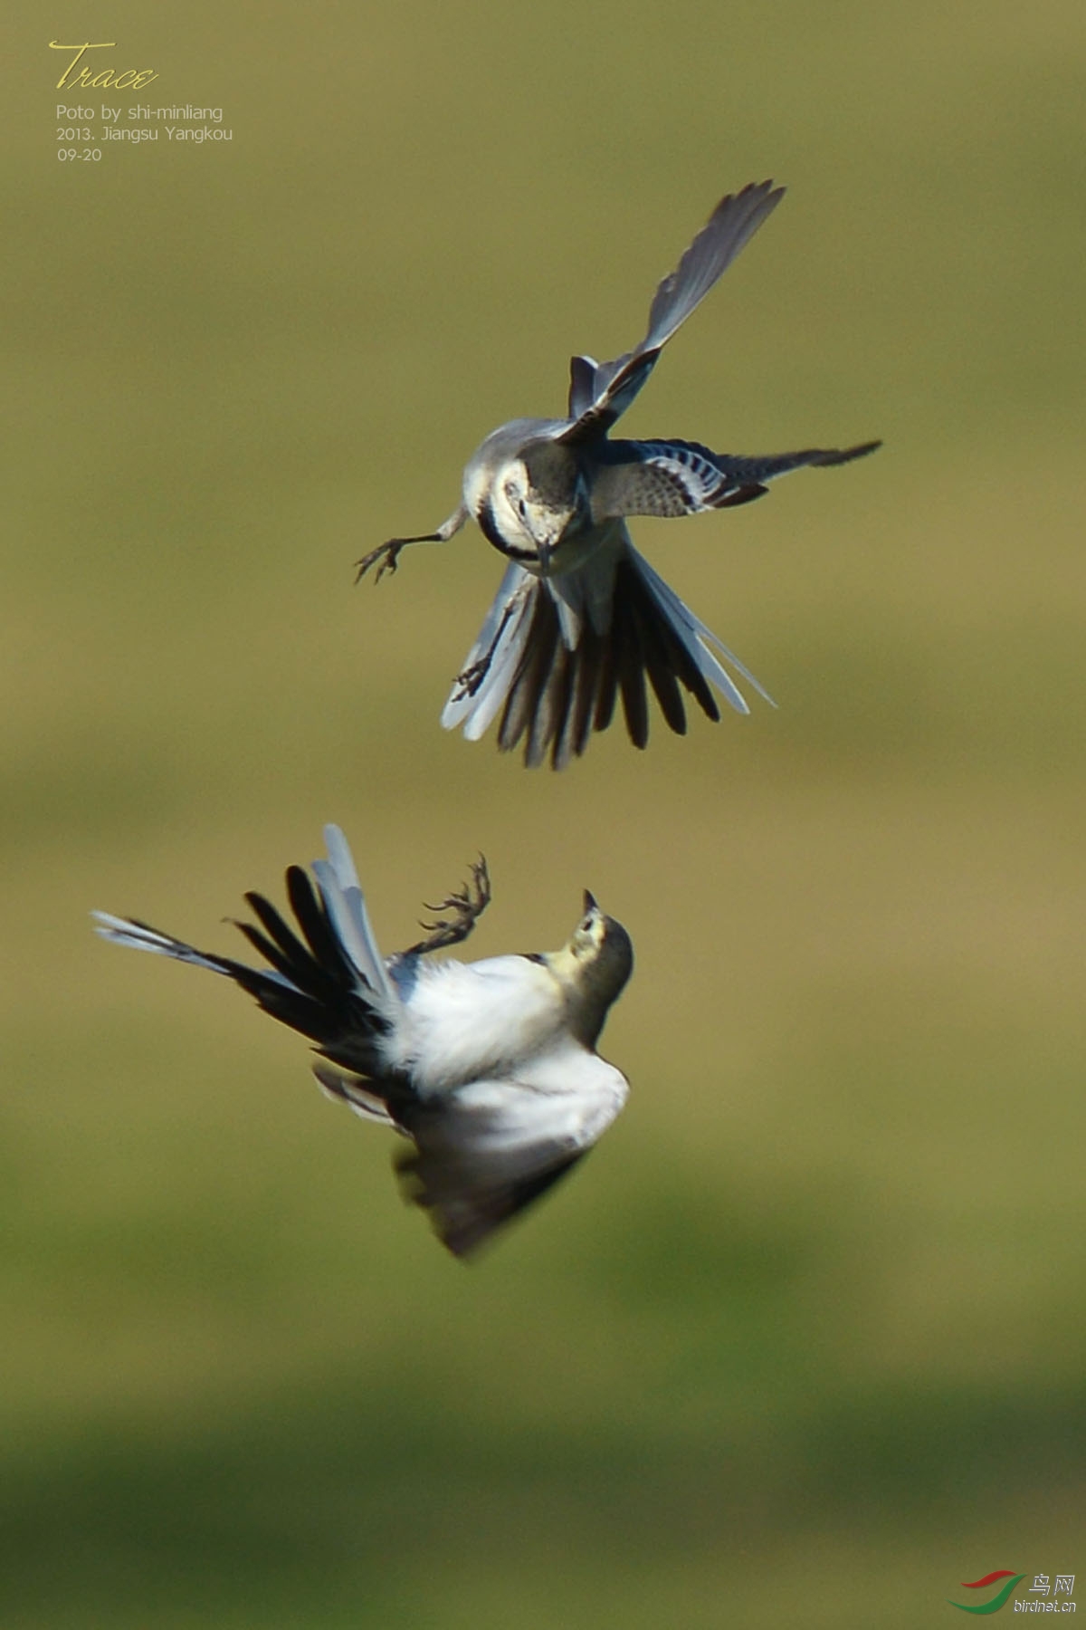
{"label": "spread black-and-white tail of the lower bird", "polygon": [[236,926],[267,968],[197,950],[135,918],[94,911],[98,932],[116,945],[226,975],[329,1058],[361,1073],[379,1069],[381,1038],[397,1024],[399,996],[373,941],[347,839],[327,826],[326,841],[329,859],[314,861],[316,890],[300,866],[287,870],[287,896],[301,937],[264,895],[246,895],[259,927]]}

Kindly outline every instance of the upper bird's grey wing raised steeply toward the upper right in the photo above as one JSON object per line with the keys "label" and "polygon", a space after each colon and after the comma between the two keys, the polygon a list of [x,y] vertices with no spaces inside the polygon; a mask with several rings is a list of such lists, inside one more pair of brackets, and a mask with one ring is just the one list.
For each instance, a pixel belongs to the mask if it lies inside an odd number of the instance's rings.
{"label": "upper bird's grey wing raised steeply toward the upper right", "polygon": [[614,362],[573,357],[570,362],[570,419],[560,442],[586,442],[604,435],[645,385],[656,359],[676,329],[702,303],[716,279],[777,209],[783,187],[772,181],[729,192],[659,284],[648,311],[648,333],[635,350]]}

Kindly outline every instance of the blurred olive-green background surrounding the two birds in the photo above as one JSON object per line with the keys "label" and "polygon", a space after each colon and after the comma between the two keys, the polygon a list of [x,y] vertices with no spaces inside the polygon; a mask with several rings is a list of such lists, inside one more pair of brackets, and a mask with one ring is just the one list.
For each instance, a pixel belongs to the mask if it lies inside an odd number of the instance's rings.
{"label": "blurred olive-green background surrounding the two birds", "polygon": [[[116,39],[231,143],[55,158]],[[2,1622],[936,1625],[1078,1571],[1086,13],[60,3],[8,65]],[[130,104],[132,93],[83,93]],[[456,502],[716,197],[628,434],[886,438],[640,546],[780,703],[565,776],[438,729]],[[466,1270],[225,981],[345,828],[386,950],[630,929],[628,1108]],[[961,1594],[961,1593],[959,1593]]]}

